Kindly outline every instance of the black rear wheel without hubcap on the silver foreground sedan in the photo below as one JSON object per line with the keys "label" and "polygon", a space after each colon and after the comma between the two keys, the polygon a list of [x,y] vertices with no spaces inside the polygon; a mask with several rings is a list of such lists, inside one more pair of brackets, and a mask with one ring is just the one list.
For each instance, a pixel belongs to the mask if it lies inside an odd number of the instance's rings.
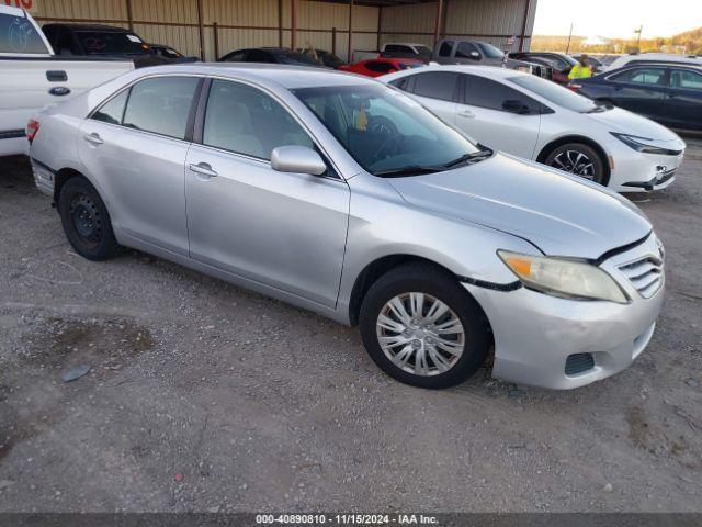
{"label": "black rear wheel without hubcap on the silver foreground sedan", "polygon": [[83,258],[106,260],[118,251],[107,209],[87,179],[76,176],[66,181],[58,213],[68,242]]}

